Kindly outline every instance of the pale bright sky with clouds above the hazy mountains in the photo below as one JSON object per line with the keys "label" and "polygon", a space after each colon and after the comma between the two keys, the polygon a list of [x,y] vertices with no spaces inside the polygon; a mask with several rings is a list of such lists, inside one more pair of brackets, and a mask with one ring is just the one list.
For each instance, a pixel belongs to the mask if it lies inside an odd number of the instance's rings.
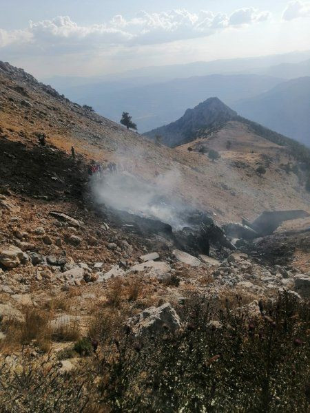
{"label": "pale bright sky with clouds above the hazy mountains", "polygon": [[0,0],[0,60],[39,78],[310,49],[310,0]]}

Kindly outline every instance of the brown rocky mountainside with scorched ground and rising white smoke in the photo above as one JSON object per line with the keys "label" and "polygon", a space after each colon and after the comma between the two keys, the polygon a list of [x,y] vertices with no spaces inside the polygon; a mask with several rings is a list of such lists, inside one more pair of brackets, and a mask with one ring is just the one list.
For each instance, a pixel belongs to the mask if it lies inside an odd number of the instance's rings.
{"label": "brown rocky mountainside with scorched ground and rising white smoke", "polygon": [[[225,123],[172,149],[70,102],[8,63],[0,63],[0,89],[1,405],[31,412],[47,405],[55,412],[118,409],[123,396],[117,394],[114,405],[109,398],[119,381],[106,383],[115,377],[118,354],[127,354],[120,349],[130,343],[134,361],[141,336],[191,333],[196,327],[183,313],[187,303],[197,308],[197,297],[217,308],[208,313],[206,331],[219,341],[216,317],[223,308],[240,314],[242,323],[245,317],[246,324],[265,323],[266,332],[271,318],[258,300],[268,305],[280,293],[304,308],[310,198],[289,147],[262,138],[217,99],[206,115],[214,122],[220,110]],[[209,160],[202,145],[221,158]],[[93,162],[104,171],[90,175]],[[265,165],[265,176],[256,173],[258,165]],[[276,233],[250,240],[233,239],[221,226],[242,216],[254,221],[265,209],[305,211]],[[253,324],[236,325],[248,342]],[[292,331],[300,337],[303,327]],[[235,330],[231,337],[236,340]],[[136,372],[135,362],[128,366]],[[136,411],[136,404],[124,411]]]}

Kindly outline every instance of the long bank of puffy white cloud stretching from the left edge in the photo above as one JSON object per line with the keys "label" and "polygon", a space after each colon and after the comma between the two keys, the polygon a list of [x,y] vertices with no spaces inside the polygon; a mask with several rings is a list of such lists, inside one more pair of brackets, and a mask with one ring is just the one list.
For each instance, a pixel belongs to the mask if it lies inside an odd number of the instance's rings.
{"label": "long bank of puffy white cloud stretching from the left edge", "polygon": [[161,44],[209,36],[218,30],[257,23],[268,17],[269,12],[258,12],[254,8],[236,10],[231,16],[209,11],[191,13],[185,9],[142,11],[132,19],[116,15],[109,22],[88,26],[78,25],[68,16],[56,17],[36,23],[30,21],[25,30],[0,29],[0,47],[13,53],[22,44],[21,53],[26,53],[27,44],[34,54],[47,51],[63,54],[115,45]]}

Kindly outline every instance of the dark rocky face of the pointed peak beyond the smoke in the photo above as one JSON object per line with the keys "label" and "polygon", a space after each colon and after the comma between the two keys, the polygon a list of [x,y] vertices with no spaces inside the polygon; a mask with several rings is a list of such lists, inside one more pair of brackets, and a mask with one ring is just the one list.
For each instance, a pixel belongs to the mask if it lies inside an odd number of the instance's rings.
{"label": "dark rocky face of the pointed peak beyond the smoke", "polygon": [[160,135],[165,145],[174,147],[192,140],[200,129],[220,127],[237,116],[238,114],[219,98],[211,97],[193,109],[187,109],[175,122],[153,129],[145,135],[150,138]]}

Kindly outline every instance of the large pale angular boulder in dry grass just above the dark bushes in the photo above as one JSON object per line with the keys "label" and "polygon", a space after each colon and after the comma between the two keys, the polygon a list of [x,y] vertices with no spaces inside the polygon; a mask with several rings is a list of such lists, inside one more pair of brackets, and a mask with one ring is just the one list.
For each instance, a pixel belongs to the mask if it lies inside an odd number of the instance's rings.
{"label": "large pale angular boulder in dry grass just above the dark bushes", "polygon": [[145,308],[140,314],[128,320],[134,335],[156,335],[168,329],[172,332],[180,328],[180,318],[169,303],[160,307]]}

